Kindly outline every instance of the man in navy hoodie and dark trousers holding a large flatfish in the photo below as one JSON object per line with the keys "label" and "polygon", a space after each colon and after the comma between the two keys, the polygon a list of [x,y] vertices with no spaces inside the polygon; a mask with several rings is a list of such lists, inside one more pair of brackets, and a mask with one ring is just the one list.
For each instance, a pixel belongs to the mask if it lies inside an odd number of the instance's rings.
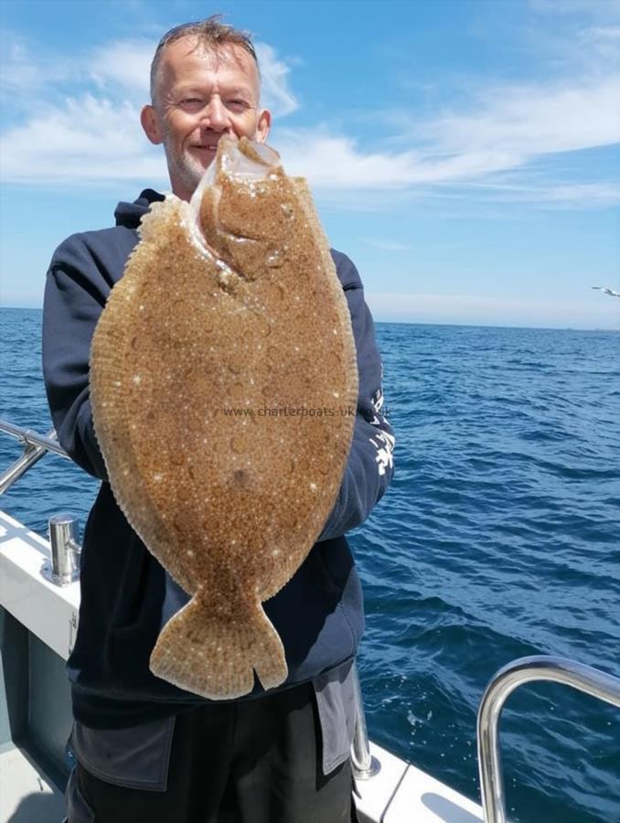
{"label": "man in navy hoodie and dark trousers holding a large flatfish", "polygon": [[[163,144],[173,192],[188,199],[222,134],[264,141],[249,37],[208,20],[160,42],[141,122]],[[65,240],[48,272],[43,369],[59,441],[102,480],[83,539],[80,627],[69,657],[77,767],[69,823],[345,823],[355,820],[349,750],[351,665],[363,630],[358,575],[344,537],[390,483],[393,436],[380,414],[381,366],[353,264],[334,251],[358,352],[355,432],[337,504],[302,567],[264,604],[289,669],[282,687],[208,701],[157,679],[156,638],[188,596],[117,507],[92,426],[88,358],[106,298],[150,204],[121,203],[113,229]]]}

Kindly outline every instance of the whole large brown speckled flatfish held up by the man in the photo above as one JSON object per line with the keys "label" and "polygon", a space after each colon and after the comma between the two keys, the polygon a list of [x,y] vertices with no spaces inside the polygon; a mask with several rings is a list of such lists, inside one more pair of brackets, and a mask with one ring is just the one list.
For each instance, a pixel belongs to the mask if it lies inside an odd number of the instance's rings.
{"label": "whole large brown speckled flatfish held up by the man", "polygon": [[[254,671],[264,689],[286,679],[262,601],[305,560],[345,470],[347,301],[305,181],[245,138],[222,138],[192,203],[155,203],[140,234],[93,337],[93,422],[119,506],[193,595],[152,671],[236,698]],[[334,413],[264,411],[302,407]]]}

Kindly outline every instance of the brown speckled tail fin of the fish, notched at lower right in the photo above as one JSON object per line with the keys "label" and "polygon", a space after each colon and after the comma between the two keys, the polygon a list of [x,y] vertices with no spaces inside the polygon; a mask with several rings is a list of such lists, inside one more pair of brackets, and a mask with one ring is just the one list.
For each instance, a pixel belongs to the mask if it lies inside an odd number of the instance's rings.
{"label": "brown speckled tail fin of the fish, notched at lower right", "polygon": [[197,593],[168,621],[150,660],[156,677],[209,700],[251,692],[254,671],[263,689],[288,675],[282,641],[262,604],[208,604]]}

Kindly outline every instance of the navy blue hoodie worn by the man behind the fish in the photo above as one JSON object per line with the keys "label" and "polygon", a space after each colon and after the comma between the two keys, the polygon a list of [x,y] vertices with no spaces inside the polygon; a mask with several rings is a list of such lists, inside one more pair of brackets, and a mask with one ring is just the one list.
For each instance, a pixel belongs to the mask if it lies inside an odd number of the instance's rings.
{"label": "navy blue hoodie worn by the man behind the fish", "polygon": [[[83,538],[80,625],[69,657],[73,713],[92,728],[151,721],[206,702],[156,678],[148,667],[157,636],[188,595],[144,547],[118,508],[92,426],[91,337],[108,294],[134,249],[154,200],[146,189],[120,203],[112,229],[76,234],[54,253],[43,315],[43,373],[59,442],[102,480]],[[289,675],[282,687],[315,678],[355,655],[364,616],[358,573],[344,535],[385,492],[394,442],[380,413],[381,363],[372,318],[353,263],[332,252],[347,296],[358,354],[359,399],[337,503],[293,579],[264,604],[281,636]],[[262,693],[258,682],[251,693]]]}

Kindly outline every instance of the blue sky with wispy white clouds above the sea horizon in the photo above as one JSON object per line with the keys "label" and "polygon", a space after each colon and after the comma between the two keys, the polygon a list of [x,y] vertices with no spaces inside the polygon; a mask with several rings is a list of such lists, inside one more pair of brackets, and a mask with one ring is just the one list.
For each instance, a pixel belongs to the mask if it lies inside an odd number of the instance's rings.
{"label": "blue sky with wispy white clouds above the sea horizon", "polygon": [[0,295],[167,187],[138,123],[172,26],[250,29],[270,137],[378,320],[620,326],[620,2],[3,0]]}

